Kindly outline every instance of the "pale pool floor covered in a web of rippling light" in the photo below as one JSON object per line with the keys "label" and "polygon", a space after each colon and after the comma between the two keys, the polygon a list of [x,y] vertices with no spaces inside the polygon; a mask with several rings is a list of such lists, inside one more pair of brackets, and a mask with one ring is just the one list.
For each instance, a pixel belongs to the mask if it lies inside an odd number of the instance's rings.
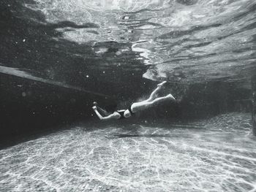
{"label": "pale pool floor covered in a web of rippling light", "polygon": [[74,126],[0,151],[0,191],[256,191],[249,114]]}

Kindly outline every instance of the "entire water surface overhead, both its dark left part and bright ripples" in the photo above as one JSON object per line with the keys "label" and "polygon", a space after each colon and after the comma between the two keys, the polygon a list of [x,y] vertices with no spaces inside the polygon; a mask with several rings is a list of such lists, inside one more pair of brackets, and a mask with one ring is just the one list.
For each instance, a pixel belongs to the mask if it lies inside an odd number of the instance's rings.
{"label": "entire water surface overhead, both its dark left part and bright ripples", "polygon": [[102,93],[142,77],[249,89],[256,72],[252,0],[24,0],[1,7],[0,65],[19,77]]}

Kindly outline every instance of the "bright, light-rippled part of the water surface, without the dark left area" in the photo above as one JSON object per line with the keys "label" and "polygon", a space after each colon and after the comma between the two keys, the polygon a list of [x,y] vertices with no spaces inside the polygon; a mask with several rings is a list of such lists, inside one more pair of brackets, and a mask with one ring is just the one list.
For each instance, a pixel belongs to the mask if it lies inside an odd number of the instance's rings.
{"label": "bright, light-rippled part of the water surface, without the dark left area", "polygon": [[26,7],[43,12],[47,23],[80,25],[56,31],[61,38],[88,43],[113,65],[138,53],[136,59],[148,65],[143,77],[151,80],[246,81],[255,72],[255,1],[36,0]]}

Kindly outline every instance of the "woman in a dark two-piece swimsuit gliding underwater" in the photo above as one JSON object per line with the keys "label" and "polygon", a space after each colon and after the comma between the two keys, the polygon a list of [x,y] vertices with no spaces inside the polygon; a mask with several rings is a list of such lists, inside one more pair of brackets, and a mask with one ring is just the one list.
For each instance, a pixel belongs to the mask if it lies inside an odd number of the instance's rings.
{"label": "woman in a dark two-piece swimsuit gliding underwater", "polygon": [[[162,89],[165,83],[166,81],[159,83],[157,85],[157,88],[151,93],[148,99],[146,99],[145,101],[133,103],[129,106],[127,110],[117,110],[113,113],[110,113],[103,110],[101,107],[98,107],[97,102],[94,102],[94,107],[92,107],[92,109],[100,120],[124,119],[131,117],[135,114],[135,112],[146,110],[149,107],[153,107],[156,104],[162,103],[163,101],[176,101],[176,99],[171,94],[168,94],[167,96],[157,97],[157,93],[159,92],[159,90]],[[103,117],[99,112],[101,112],[105,116]]]}

